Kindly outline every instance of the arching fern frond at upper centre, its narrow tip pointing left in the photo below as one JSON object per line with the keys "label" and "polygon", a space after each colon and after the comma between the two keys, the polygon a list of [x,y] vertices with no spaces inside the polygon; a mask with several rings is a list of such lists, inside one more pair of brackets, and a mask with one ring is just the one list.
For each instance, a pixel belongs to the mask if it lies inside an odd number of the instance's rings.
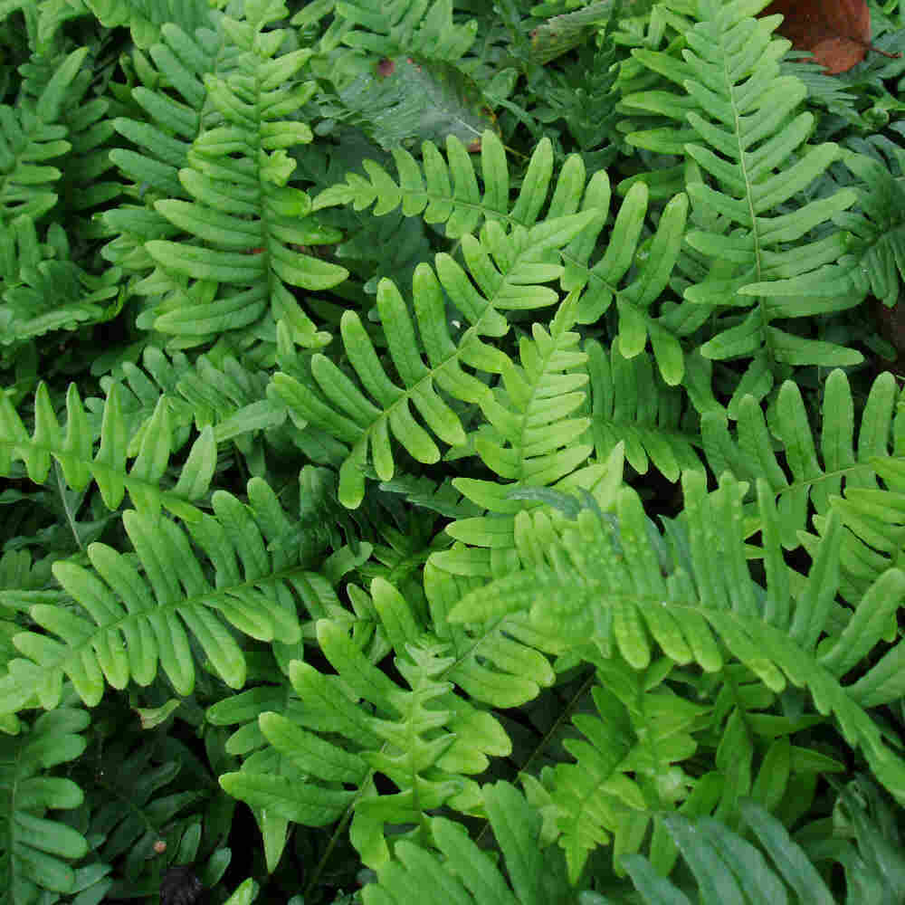
{"label": "arching fern frond at upper centre, its narrow tip pointing left", "polygon": [[[490,130],[481,137],[482,191],[472,159],[458,139],[447,139],[445,160],[431,142],[424,142],[422,150],[421,164],[405,149],[393,150],[398,183],[383,167],[366,160],[363,166],[369,179],[349,174],[344,185],[332,186],[318,195],[315,209],[340,204],[362,209],[373,204],[374,213],[382,215],[401,205],[406,216],[421,214],[426,223],[445,224],[446,235],[452,239],[479,228],[483,235],[486,224],[491,222],[532,228],[538,224],[545,206],[548,221],[551,217],[575,214],[579,209],[586,214],[593,212],[586,228],[561,252],[566,265],[562,288],[584,291],[577,322],[596,323],[615,299],[624,356],[638,355],[650,338],[666,382],[675,386],[681,381],[683,353],[675,326],[664,316],[654,316],[651,309],[679,258],[688,214],[685,195],[677,195],[666,205],[653,235],[642,243],[648,191],[646,186],[635,186],[616,216],[605,254],[591,262],[612,197],[605,170],[586,181],[581,157],[570,155],[554,181],[553,148],[543,138],[531,156],[519,196],[510,205],[505,149]],[[630,281],[622,286],[626,274]]]}

